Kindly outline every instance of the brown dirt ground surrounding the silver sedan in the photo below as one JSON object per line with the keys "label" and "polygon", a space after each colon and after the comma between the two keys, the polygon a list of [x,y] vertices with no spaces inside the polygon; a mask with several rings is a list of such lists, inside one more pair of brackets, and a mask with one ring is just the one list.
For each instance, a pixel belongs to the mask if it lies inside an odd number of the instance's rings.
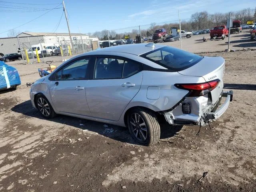
{"label": "brown dirt ground surrounding the silver sedan", "polygon": [[225,88],[234,90],[228,110],[199,136],[198,126],[162,124],[150,147],[134,143],[126,128],[41,118],[25,85],[46,64],[12,64],[22,85],[0,92],[0,191],[255,192],[256,51],[207,55],[226,60]]}

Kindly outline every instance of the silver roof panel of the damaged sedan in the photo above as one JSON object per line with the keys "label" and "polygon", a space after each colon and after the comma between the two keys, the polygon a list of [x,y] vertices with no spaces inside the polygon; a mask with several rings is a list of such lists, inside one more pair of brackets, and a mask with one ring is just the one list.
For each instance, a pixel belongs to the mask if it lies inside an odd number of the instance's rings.
{"label": "silver roof panel of the damaged sedan", "polygon": [[150,52],[154,49],[158,49],[161,47],[165,47],[165,45],[155,44],[155,47],[148,47],[146,46],[146,43],[140,43],[140,44],[126,44],[126,45],[119,45],[119,46],[112,46],[112,47],[106,47],[97,49],[94,51],[90,51],[90,55],[96,54],[104,54],[104,52],[122,52],[122,53],[129,53],[134,55],[141,55],[146,52]]}

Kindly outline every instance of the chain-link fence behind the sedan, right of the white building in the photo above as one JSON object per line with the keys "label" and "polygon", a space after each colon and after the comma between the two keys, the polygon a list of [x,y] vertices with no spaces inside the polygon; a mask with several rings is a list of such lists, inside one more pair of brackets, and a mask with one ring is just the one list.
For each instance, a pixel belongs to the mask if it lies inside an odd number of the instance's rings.
{"label": "chain-link fence behind the sedan, right of the white building", "polygon": [[[254,22],[255,9],[212,15],[198,12],[188,19],[103,30],[101,46],[120,45],[121,40],[128,39],[126,44],[155,42],[194,53],[255,49]],[[104,45],[108,40],[110,43]]]}

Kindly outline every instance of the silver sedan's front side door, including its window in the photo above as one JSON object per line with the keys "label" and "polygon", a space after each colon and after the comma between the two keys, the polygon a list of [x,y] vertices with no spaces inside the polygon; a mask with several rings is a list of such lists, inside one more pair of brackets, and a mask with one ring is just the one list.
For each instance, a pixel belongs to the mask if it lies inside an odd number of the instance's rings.
{"label": "silver sedan's front side door, including its window", "polygon": [[59,112],[90,116],[85,93],[88,63],[89,58],[76,59],[56,72],[50,94]]}

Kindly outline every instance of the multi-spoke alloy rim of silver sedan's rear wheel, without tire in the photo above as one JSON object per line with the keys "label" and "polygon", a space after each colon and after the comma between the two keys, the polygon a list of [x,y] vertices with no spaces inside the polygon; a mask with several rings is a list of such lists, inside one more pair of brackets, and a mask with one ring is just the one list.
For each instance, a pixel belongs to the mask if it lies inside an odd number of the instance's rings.
{"label": "multi-spoke alloy rim of silver sedan's rear wheel, without tire", "polygon": [[132,133],[139,141],[145,141],[148,136],[148,131],[143,118],[138,113],[133,113],[130,118],[130,126]]}

